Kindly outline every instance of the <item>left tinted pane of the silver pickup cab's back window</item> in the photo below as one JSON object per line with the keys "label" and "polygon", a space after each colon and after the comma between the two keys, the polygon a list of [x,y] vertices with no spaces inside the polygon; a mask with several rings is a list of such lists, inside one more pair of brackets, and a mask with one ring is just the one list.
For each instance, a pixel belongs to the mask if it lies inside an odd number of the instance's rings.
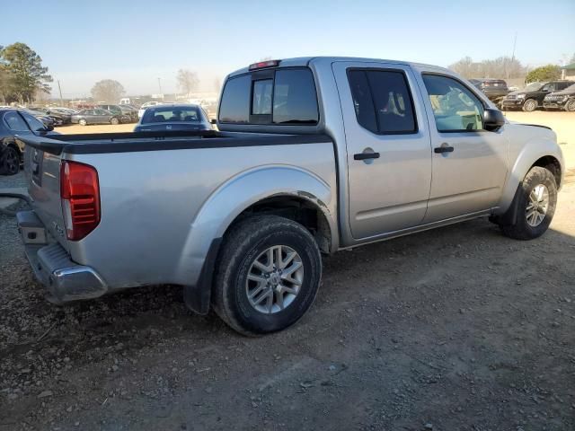
{"label": "left tinted pane of the silver pickup cab's back window", "polygon": [[226,83],[219,108],[219,120],[223,123],[250,122],[250,75],[231,78]]}

